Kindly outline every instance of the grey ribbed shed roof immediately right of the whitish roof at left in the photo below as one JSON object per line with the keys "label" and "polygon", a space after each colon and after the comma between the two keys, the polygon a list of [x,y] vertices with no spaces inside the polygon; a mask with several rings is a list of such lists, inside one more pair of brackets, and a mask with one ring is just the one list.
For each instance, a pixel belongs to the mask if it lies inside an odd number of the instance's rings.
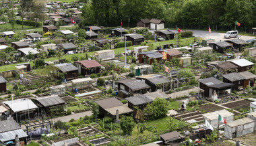
{"label": "grey ribbed shed roof immediately right of the whitish roof at left", "polygon": [[57,95],[34,98],[34,100],[37,100],[44,107],[65,104],[65,101]]}

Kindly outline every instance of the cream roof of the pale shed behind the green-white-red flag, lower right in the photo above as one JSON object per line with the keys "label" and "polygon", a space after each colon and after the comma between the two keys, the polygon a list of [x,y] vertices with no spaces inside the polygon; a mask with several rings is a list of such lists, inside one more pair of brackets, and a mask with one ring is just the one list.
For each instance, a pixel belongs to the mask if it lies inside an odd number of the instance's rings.
{"label": "cream roof of the pale shed behind the green-white-red flag, lower right", "polygon": [[216,120],[219,118],[219,115],[221,115],[223,118],[234,116],[233,113],[230,113],[229,111],[226,111],[226,109],[223,109],[220,111],[203,114],[203,117],[205,117],[209,120]]}

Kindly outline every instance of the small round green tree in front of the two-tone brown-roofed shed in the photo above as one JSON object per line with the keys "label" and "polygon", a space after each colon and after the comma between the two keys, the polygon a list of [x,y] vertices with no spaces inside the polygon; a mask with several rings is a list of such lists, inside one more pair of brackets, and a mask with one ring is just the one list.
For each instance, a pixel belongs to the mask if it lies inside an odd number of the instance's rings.
{"label": "small round green tree in front of the two-tone brown-roofed shed", "polygon": [[120,127],[124,134],[131,135],[133,128],[135,127],[133,117],[123,116],[120,120]]}

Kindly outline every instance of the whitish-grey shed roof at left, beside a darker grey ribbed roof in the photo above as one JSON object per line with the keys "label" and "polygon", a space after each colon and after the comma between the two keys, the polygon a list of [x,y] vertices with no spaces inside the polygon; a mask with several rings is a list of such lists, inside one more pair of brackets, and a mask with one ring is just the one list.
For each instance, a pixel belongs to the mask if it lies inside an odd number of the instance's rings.
{"label": "whitish-grey shed roof at left, beside a darker grey ribbed roof", "polygon": [[9,100],[9,101],[3,101],[4,104],[7,104],[9,108],[13,111],[13,113],[17,113],[20,111],[28,111],[38,108],[34,102],[30,99],[21,98],[21,99],[15,99],[15,100]]}

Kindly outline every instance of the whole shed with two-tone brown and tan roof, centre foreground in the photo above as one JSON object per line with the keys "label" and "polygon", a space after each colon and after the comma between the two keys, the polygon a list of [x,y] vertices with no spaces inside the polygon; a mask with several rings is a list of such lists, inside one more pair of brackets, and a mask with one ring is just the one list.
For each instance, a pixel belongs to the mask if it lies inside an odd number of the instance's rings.
{"label": "whole shed with two-tone brown and tan roof, centre foreground", "polygon": [[117,109],[118,109],[118,117],[121,118],[121,115],[129,115],[130,113],[133,113],[133,110],[119,100],[117,98],[105,98],[101,100],[96,100],[96,104],[99,106],[99,116],[100,117],[106,117],[108,115],[110,116],[116,116]]}

